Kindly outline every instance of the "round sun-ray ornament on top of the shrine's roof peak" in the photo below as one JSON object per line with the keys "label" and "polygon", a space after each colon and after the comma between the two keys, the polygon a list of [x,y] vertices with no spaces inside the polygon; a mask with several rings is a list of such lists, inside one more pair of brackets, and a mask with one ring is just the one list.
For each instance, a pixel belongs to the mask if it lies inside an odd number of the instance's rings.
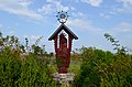
{"label": "round sun-ray ornament on top of the shrine's roof peak", "polygon": [[68,14],[65,11],[61,11],[61,12],[57,12],[56,18],[59,21],[59,23],[66,23]]}

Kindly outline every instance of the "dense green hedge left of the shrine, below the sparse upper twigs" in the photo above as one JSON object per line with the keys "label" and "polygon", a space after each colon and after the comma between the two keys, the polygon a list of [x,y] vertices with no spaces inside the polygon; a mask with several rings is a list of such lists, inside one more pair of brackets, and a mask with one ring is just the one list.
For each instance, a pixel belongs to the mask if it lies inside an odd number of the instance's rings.
{"label": "dense green hedge left of the shrine, below the sparse upper twigs", "polygon": [[0,54],[0,87],[57,87],[47,58],[29,54],[22,58],[16,51]]}

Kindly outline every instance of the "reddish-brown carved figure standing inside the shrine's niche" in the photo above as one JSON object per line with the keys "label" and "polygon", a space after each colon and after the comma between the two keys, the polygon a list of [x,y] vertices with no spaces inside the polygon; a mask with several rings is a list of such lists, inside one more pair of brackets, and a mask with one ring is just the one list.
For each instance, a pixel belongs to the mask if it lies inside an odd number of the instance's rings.
{"label": "reddish-brown carved figure standing inside the shrine's niche", "polygon": [[58,73],[67,73],[67,68],[69,67],[70,57],[68,57],[68,47],[67,47],[67,39],[65,33],[61,33],[59,35],[59,47],[57,48],[57,67]]}

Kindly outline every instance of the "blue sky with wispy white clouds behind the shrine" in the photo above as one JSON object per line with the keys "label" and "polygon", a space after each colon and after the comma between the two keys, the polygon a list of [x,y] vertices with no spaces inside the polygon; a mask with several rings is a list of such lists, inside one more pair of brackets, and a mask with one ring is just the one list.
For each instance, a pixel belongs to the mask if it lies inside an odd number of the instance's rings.
{"label": "blue sky with wispy white clouds behind the shrine", "polygon": [[25,37],[32,44],[43,36],[40,45],[54,52],[48,37],[59,26],[55,15],[61,10],[68,11],[66,25],[79,37],[73,50],[85,45],[112,52],[105,33],[132,50],[132,0],[0,0],[0,31],[22,44]]}

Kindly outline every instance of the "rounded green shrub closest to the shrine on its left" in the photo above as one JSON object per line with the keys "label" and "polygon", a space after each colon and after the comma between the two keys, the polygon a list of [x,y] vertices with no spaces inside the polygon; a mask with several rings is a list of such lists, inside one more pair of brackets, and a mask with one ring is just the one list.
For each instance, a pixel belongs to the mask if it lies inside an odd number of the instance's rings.
{"label": "rounded green shrub closest to the shrine on its left", "polygon": [[24,87],[47,87],[52,86],[52,73],[47,66],[46,59],[37,58],[37,56],[29,55],[22,62],[22,73],[19,85]]}

